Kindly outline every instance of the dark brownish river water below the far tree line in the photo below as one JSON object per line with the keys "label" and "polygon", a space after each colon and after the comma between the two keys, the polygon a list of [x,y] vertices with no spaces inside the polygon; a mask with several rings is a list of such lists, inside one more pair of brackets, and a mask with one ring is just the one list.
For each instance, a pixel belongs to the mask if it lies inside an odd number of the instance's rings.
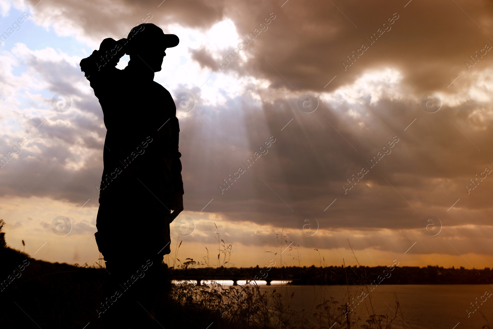
{"label": "dark brownish river water below the far tree line", "polygon": [[[220,283],[225,286],[232,284],[228,281]],[[238,283],[242,285],[244,282]],[[347,298],[348,292],[346,286],[286,286],[274,281],[272,284],[266,286],[265,282],[258,282],[262,292],[267,291],[269,295],[274,290],[282,292],[283,296],[288,297],[285,302],[289,300],[290,306],[296,311],[305,309],[310,315],[317,312],[317,305],[324,299],[334,297],[334,300],[342,302]],[[366,293],[361,294],[362,288],[349,286],[351,296],[361,301],[359,305],[357,302],[353,303],[353,314],[362,319],[358,323],[359,326],[368,319],[366,307],[370,307],[370,298],[377,315],[387,314],[392,318],[395,313],[390,307],[394,308],[398,299],[400,311],[397,312],[398,317],[394,320],[392,328],[481,329],[486,321],[480,311],[491,321],[490,325],[493,325],[493,296],[487,297],[490,293],[485,295],[487,291],[493,292],[490,285],[379,285],[365,298],[363,296]],[[292,292],[294,297],[290,298]],[[310,316],[309,320],[317,323],[313,316]]]}

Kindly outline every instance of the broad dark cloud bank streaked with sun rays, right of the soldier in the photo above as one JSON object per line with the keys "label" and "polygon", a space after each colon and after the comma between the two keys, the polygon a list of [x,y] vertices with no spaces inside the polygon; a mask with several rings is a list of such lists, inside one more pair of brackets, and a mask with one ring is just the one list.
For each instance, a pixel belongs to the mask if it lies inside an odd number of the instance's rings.
{"label": "broad dark cloud bank streaked with sun rays, right of the soldier", "polygon": [[[471,215],[474,210],[490,209],[487,199],[493,186],[488,178],[475,195],[468,195],[465,188],[485,167],[493,168],[484,156],[492,151],[486,142],[491,139],[489,129],[475,130],[460,119],[466,115],[464,111],[472,111],[480,103],[469,110],[446,107],[433,116],[421,108],[410,109],[407,101],[384,99],[363,104],[362,110],[368,115],[350,119],[345,114],[350,107],[345,103],[337,107],[321,104],[308,114],[297,108],[296,99],[264,103],[262,112],[248,105],[247,99],[244,96],[241,103],[237,100],[228,106],[242,111],[200,107],[182,120],[181,152],[189,210],[200,211],[214,199],[205,211],[223,213],[230,220],[296,227],[300,219],[311,216],[330,229],[420,228],[428,215],[447,216],[448,224],[460,225],[464,224],[463,213],[447,212],[458,198],[456,207]],[[235,152],[202,122],[203,115],[210,118],[208,124],[228,145],[236,147]],[[294,120],[281,131],[291,118]],[[232,129],[239,121],[245,125],[244,131]],[[359,129],[360,121],[369,128]],[[479,141],[481,152],[453,122],[471,140]],[[489,127],[491,121],[483,125]],[[197,135],[206,138],[197,139]],[[239,136],[246,138],[241,146]],[[248,168],[242,161],[270,136],[276,142]],[[399,142],[389,149],[387,144],[395,137]],[[386,150],[390,153],[383,155]],[[382,159],[377,157],[378,163],[371,167],[367,161],[379,152]],[[237,181],[230,181],[232,185],[221,194],[219,185],[226,187],[223,180],[238,172],[238,167],[246,172]],[[349,188],[347,180],[363,167],[369,172],[360,181],[352,181],[355,186],[345,194],[343,186]],[[488,224],[489,219],[482,213],[467,222]]]}

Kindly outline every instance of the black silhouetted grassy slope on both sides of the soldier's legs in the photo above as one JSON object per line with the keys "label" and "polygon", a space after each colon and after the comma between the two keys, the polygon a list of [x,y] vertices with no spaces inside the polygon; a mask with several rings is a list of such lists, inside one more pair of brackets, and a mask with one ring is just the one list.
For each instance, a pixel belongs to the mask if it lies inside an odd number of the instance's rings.
{"label": "black silhouetted grassy slope on both sides of the soldier's legs", "polygon": [[[0,328],[103,328],[97,309],[105,269],[35,260],[8,247],[0,248],[0,260]],[[158,295],[155,318],[164,328],[207,328],[220,318],[219,312],[181,307],[165,298],[166,291]]]}

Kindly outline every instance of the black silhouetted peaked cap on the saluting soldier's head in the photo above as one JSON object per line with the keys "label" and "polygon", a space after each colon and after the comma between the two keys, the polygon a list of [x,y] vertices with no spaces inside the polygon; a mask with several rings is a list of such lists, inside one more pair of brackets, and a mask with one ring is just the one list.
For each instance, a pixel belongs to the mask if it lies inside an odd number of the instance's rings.
{"label": "black silhouetted peaked cap on the saluting soldier's head", "polygon": [[127,37],[126,53],[131,54],[138,49],[146,49],[149,45],[163,45],[165,48],[176,47],[180,39],[174,34],[165,34],[161,28],[144,23],[133,28]]}

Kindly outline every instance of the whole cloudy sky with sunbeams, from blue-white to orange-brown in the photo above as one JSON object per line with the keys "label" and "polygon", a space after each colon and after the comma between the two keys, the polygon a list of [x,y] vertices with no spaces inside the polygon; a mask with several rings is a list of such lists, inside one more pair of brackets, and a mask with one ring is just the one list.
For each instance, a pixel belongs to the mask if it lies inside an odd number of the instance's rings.
{"label": "whole cloudy sky with sunbeams, from blue-white to orange-brown", "polygon": [[[7,244],[22,249],[24,239],[49,261],[99,258],[106,128],[79,62],[146,18],[180,38],[154,80],[195,101],[177,111],[187,217],[172,224],[168,262],[200,260],[206,246],[215,259],[215,223],[236,266],[267,265],[266,251],[279,252],[278,265],[319,255],[354,264],[348,240],[369,266],[490,266],[492,9],[485,0],[0,1]],[[53,109],[58,93],[69,110]],[[229,186],[229,175],[240,177]],[[65,236],[52,230],[59,216],[71,225]],[[135,229],[152,228],[135,219]]]}

